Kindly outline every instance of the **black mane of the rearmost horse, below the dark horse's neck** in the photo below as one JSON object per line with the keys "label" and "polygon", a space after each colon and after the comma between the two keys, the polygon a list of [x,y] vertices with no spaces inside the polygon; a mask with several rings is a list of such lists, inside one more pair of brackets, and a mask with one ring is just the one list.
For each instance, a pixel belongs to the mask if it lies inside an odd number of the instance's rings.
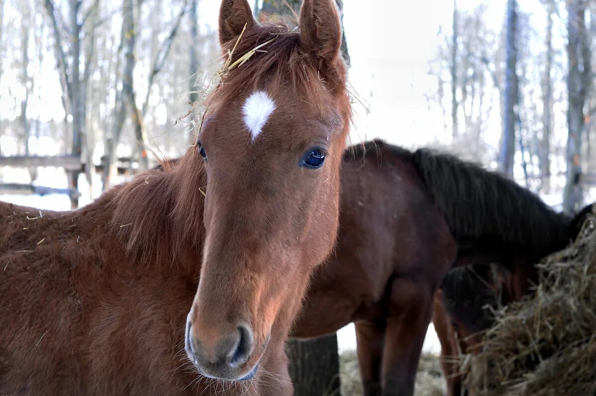
{"label": "black mane of the rearmost horse, below the dark horse's neck", "polygon": [[[478,271],[486,271],[480,273]],[[499,306],[498,294],[488,287],[493,283],[488,266],[455,267],[447,272],[441,289],[443,301],[449,314],[457,317],[472,332],[488,329],[492,326],[492,310]]]}

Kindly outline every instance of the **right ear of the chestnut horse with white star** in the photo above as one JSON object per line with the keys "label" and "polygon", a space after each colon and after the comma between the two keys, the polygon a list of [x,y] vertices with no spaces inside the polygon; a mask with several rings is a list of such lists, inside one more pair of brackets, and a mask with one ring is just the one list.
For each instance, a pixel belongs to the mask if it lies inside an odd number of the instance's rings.
{"label": "right ear of the chestnut horse with white star", "polygon": [[300,45],[324,58],[335,60],[342,45],[342,25],[335,0],[304,0],[300,9]]}

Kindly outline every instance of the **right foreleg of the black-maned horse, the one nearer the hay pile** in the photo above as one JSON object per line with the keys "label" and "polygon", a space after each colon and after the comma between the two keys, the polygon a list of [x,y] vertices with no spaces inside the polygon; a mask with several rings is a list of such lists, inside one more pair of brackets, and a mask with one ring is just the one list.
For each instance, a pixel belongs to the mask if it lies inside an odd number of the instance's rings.
{"label": "right foreleg of the black-maned horse, the one nearer the hay pile", "polygon": [[393,281],[383,353],[383,396],[411,396],[418,360],[432,314],[432,288],[426,282]]}

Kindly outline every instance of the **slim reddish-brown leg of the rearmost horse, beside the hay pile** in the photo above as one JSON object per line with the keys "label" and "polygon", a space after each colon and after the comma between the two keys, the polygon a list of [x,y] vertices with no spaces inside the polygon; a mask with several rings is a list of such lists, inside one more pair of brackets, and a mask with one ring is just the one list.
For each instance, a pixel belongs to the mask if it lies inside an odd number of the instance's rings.
{"label": "slim reddish-brown leg of the rearmost horse, beside the hay pile", "polygon": [[460,353],[457,344],[455,344],[457,340],[455,339],[451,319],[449,319],[449,313],[445,308],[445,303],[443,303],[443,291],[441,289],[434,294],[433,305],[433,324],[441,344],[441,367],[447,383],[447,395],[460,396],[461,376],[459,375],[460,364],[457,360]]}

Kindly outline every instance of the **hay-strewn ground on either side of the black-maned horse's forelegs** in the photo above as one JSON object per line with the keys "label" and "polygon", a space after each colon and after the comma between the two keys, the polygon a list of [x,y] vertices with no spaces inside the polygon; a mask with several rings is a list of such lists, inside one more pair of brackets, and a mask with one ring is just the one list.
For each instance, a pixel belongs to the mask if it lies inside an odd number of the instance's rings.
{"label": "hay-strewn ground on either side of the black-maned horse's forelegs", "polygon": [[[346,351],[340,356],[340,377],[342,381],[342,395],[361,396],[360,370],[355,351]],[[444,396],[445,380],[440,367],[439,357],[423,354],[418,364],[416,375],[415,396]]]}

